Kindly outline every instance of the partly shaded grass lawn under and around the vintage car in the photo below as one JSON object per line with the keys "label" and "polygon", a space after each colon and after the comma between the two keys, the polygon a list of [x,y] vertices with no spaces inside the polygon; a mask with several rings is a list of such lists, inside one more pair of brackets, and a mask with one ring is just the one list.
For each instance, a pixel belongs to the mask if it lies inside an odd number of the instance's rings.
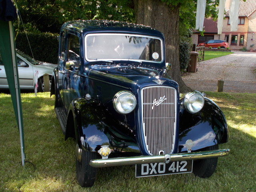
{"label": "partly shaded grass lawn under and around the vintage car", "polygon": [[92,188],[76,181],[75,141],[60,130],[49,92],[22,94],[26,163],[9,94],[0,93],[0,192],[255,192],[256,94],[206,92],[228,121],[230,155],[207,179],[193,174],[135,178],[135,166],[99,168]]}

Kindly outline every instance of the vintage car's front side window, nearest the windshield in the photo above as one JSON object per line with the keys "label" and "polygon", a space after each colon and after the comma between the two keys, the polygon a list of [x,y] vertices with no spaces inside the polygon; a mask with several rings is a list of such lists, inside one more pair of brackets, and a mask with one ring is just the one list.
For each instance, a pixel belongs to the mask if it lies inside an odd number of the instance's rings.
{"label": "vintage car's front side window, nearest the windshield", "polygon": [[79,67],[80,62],[80,41],[79,37],[73,34],[68,36],[67,63],[74,62],[75,67]]}

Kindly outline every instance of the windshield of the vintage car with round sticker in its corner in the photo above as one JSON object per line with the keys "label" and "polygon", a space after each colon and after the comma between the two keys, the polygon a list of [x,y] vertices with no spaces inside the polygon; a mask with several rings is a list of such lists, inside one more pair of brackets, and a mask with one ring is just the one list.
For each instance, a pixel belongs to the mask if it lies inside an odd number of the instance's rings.
{"label": "windshield of the vintage car with round sticker in its corner", "polygon": [[162,40],[133,34],[88,34],[86,60],[162,61]]}

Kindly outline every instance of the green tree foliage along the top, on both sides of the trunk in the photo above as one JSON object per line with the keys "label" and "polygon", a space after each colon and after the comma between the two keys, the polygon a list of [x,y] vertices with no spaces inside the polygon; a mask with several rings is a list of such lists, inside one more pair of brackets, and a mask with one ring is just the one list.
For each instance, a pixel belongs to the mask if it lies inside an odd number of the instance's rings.
{"label": "green tree foliage along the top, on both sides of the trunk", "polygon": [[[195,26],[197,0],[161,0],[180,9],[180,23]],[[133,0],[17,0],[26,30],[58,33],[68,20],[105,19],[135,22]],[[217,18],[219,0],[206,0],[206,17]],[[20,31],[23,28],[20,27]]]}

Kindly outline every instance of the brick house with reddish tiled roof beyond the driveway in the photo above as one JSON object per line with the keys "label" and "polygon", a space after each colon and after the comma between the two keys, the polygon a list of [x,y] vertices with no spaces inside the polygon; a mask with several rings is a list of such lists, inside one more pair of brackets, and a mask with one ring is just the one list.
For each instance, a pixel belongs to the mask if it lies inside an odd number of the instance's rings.
{"label": "brick house with reddish tiled roof beyond the driveway", "polygon": [[239,50],[246,47],[250,49],[250,45],[255,44],[253,50],[256,50],[256,0],[240,0],[238,14],[238,30],[230,31],[229,20],[230,0],[226,0],[226,15],[223,21],[222,34],[218,35],[217,22],[212,19],[204,20],[204,37],[199,32],[192,35],[192,42],[198,44],[210,39],[226,40],[231,49]]}

